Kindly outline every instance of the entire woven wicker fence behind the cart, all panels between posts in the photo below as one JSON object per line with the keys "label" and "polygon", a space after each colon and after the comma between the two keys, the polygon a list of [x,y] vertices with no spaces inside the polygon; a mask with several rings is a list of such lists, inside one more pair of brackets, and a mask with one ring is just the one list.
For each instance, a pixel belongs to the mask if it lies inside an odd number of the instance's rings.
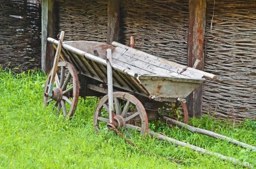
{"label": "entire woven wicker fence behind the cart, all panels between posts", "polygon": [[[2,3],[5,8],[0,10],[0,62],[15,64],[13,58],[21,55],[24,67],[37,66],[40,30],[32,28],[40,26],[39,14],[24,14],[24,4],[15,4],[15,11],[7,9],[13,5],[8,1]],[[255,0],[207,0],[205,71],[220,75],[224,81],[206,81],[203,113],[236,121],[256,118],[255,4]],[[188,5],[187,0],[123,0],[119,42],[128,45],[129,36],[135,36],[135,47],[139,50],[186,65]],[[26,20],[9,15],[26,16]],[[24,24],[28,24],[25,29]],[[107,1],[57,0],[55,36],[60,30],[65,30],[65,40],[106,42]]]}

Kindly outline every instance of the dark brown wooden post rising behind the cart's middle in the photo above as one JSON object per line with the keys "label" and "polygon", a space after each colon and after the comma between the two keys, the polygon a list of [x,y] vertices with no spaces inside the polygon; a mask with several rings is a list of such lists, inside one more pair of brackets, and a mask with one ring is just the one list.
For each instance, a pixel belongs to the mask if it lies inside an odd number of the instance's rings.
{"label": "dark brown wooden post rising behind the cart's middle", "polygon": [[108,32],[106,42],[118,42],[119,35],[119,0],[108,0]]}

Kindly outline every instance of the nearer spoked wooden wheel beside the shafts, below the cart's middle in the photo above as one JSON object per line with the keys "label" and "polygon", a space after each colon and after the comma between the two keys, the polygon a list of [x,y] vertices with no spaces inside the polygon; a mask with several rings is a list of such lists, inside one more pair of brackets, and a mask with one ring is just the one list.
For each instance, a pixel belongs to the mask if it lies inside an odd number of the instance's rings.
{"label": "nearer spoked wooden wheel beside the shafts, below the cart's middle", "polygon": [[[148,116],[141,102],[135,96],[125,92],[113,92],[117,127],[139,129],[141,135],[148,133]],[[98,132],[109,123],[108,96],[100,99],[94,112],[94,128]]]}

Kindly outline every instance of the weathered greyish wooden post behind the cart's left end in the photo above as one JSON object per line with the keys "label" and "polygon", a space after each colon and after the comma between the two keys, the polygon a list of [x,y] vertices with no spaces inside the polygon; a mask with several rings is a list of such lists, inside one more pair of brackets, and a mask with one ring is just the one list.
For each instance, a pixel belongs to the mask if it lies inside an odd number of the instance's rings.
{"label": "weathered greyish wooden post behind the cart's left end", "polygon": [[47,38],[53,38],[53,2],[54,0],[42,0],[42,71],[49,73],[53,67],[54,48],[47,42]]}

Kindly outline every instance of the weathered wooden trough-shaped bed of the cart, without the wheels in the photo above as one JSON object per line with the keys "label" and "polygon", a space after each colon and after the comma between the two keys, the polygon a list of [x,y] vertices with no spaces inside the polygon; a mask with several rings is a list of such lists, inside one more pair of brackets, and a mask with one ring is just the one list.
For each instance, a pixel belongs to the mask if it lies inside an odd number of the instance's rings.
{"label": "weathered wooden trough-shaped bed of the cart, without the wheels", "polygon": [[[55,45],[59,43],[53,38],[48,40]],[[106,48],[111,48],[113,52],[113,86],[117,90],[150,96],[157,101],[172,101],[186,98],[205,80],[203,71],[117,42],[113,42],[112,46],[84,40],[63,42],[61,57],[75,65],[82,75],[107,83]],[[97,86],[89,85],[88,88],[97,90]]]}

